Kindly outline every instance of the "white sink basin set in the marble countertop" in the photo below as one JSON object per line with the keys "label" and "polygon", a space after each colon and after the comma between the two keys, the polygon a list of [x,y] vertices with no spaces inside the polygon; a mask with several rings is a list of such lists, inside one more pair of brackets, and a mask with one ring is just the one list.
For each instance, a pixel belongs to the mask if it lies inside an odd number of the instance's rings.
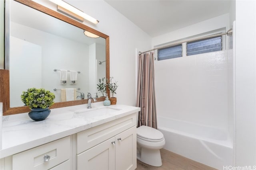
{"label": "white sink basin set in the marble countertop", "polygon": [[102,107],[102,108],[97,108],[97,109],[86,109],[84,111],[76,111],[76,114],[79,114],[79,116],[83,117],[97,117],[97,116],[102,116],[106,114],[111,114],[114,111],[118,111],[120,109],[118,108],[112,108],[112,107]]}

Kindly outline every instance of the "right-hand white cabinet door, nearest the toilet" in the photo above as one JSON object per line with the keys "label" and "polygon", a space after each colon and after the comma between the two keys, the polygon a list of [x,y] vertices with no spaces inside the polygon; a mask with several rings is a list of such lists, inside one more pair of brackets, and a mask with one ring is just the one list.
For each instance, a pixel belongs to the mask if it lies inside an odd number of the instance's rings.
{"label": "right-hand white cabinet door, nearest the toilet", "polygon": [[134,170],[136,160],[136,126],[116,135],[116,170]]}

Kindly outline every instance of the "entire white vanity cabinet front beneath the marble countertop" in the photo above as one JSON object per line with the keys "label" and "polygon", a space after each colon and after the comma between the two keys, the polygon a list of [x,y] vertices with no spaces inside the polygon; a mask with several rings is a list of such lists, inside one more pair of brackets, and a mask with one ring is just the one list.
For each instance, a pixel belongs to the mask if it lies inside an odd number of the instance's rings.
{"label": "entire white vanity cabinet front beneath the marble countertop", "polygon": [[[86,126],[90,126],[87,124]],[[85,130],[79,131],[79,128]],[[0,159],[1,170],[135,170],[136,113]]]}

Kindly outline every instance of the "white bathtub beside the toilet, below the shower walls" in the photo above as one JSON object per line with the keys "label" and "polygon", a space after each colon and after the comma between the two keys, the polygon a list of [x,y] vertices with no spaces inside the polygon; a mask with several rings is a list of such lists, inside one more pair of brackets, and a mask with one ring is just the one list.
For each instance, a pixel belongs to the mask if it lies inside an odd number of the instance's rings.
{"label": "white bathtub beside the toilet, below the shower walls", "polygon": [[233,144],[223,129],[157,117],[158,130],[164,134],[164,149],[216,169],[232,166]]}

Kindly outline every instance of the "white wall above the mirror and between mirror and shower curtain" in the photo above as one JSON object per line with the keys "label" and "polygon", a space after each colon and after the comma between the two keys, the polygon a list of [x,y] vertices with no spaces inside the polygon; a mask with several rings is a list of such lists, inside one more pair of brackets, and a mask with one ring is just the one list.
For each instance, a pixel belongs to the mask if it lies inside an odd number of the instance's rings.
{"label": "white wall above the mirror and between mirror and shower curtain", "polygon": [[[35,1],[56,11],[56,5],[49,1]],[[150,49],[151,37],[104,0],[66,2],[100,21],[97,25],[84,21],[85,25],[110,36],[110,76],[118,81],[117,104],[135,106],[135,50]]]}

